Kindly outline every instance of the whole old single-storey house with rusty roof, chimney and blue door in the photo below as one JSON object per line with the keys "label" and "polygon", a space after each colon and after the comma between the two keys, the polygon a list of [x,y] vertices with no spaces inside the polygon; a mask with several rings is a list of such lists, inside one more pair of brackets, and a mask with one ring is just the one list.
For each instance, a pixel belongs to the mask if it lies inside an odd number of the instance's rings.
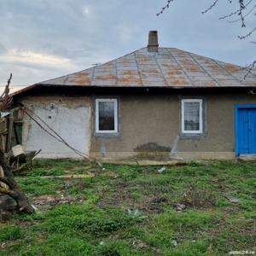
{"label": "whole old single-storey house with rusty roof, chimney and blue door", "polygon": [[[233,159],[256,154],[256,73],[148,47],[13,94],[41,158]],[[17,115],[17,117],[18,117]]]}

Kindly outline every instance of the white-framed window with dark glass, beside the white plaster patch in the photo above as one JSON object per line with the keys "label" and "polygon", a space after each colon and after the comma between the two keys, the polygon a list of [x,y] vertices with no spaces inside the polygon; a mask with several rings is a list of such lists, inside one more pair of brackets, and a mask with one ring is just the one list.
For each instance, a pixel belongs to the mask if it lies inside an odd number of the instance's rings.
{"label": "white-framed window with dark glass, beside the white plaster patch", "polygon": [[96,99],[96,132],[118,132],[117,99]]}

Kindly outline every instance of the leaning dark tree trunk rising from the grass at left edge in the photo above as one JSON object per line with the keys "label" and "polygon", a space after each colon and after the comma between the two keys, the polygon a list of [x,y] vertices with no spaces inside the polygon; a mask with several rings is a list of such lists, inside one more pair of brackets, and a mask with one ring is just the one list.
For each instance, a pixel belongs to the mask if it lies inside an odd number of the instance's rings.
{"label": "leaning dark tree trunk rising from the grass at left edge", "polygon": [[15,177],[9,167],[9,163],[4,157],[2,148],[0,148],[0,166],[2,166],[4,174],[4,177],[0,177],[0,181],[7,185],[3,186],[0,183],[0,193],[12,197],[17,203],[17,210],[19,210],[20,212],[34,212],[34,209],[29,203],[26,195],[24,194],[22,189],[20,189],[19,184],[16,183]]}

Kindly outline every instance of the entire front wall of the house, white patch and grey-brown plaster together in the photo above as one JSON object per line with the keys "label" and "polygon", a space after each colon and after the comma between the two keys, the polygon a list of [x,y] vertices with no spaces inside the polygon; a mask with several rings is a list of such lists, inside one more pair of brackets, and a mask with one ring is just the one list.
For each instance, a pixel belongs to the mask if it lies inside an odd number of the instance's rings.
{"label": "entire front wall of the house, white patch and grey-brown plaster together", "polygon": [[[58,132],[67,142],[93,158],[113,159],[232,159],[235,158],[235,104],[256,104],[256,96],[242,93],[200,93],[189,94],[185,90],[169,90],[166,93],[141,91],[137,94],[113,93],[119,98],[119,136],[96,137],[94,132],[96,96],[107,96],[93,91],[91,96],[26,96],[20,99],[27,108],[36,113],[55,112],[65,108],[65,117],[59,120]],[[192,95],[192,96],[191,96]],[[182,98],[202,98],[205,109],[205,136],[199,138],[179,137],[180,101]],[[53,104],[53,105],[51,105]],[[51,108],[54,106],[54,109]],[[70,113],[68,113],[70,108]],[[79,119],[74,119],[79,110]],[[47,113],[48,113],[47,112]],[[60,112],[61,113],[61,112]],[[45,115],[45,114],[44,114]],[[84,121],[81,120],[84,117]],[[56,116],[57,118],[57,116]],[[49,123],[53,119],[47,119]],[[83,118],[82,118],[83,119]],[[80,120],[80,121],[79,121]],[[50,123],[49,123],[50,124]],[[76,129],[75,126],[79,128]],[[33,126],[33,127],[32,127]],[[58,152],[48,152],[51,137],[43,136],[40,127],[24,116],[23,144],[27,150],[41,149],[40,157],[73,157],[70,148],[55,144]],[[47,151],[48,150],[48,151]]]}

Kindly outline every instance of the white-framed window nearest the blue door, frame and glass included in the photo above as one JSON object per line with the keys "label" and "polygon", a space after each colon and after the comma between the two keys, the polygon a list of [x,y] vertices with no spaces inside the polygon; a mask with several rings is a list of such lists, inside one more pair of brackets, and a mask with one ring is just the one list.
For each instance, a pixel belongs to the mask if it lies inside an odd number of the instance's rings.
{"label": "white-framed window nearest the blue door, frame and glass included", "polygon": [[202,100],[183,99],[182,100],[182,133],[202,133]]}

